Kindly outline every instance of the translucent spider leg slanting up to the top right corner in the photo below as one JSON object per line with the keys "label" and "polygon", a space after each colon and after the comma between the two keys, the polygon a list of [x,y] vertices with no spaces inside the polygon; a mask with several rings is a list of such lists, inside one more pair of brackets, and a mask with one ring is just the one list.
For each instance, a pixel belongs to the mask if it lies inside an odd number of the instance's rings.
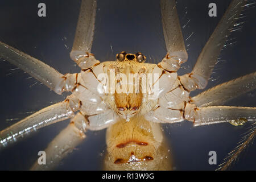
{"label": "translucent spider leg slanting up to the top right corner", "polygon": [[246,0],[233,0],[230,3],[207,44],[205,44],[203,51],[200,53],[192,72],[180,77],[181,82],[189,91],[204,89],[207,86],[221,49],[234,23],[239,19],[245,3]]}

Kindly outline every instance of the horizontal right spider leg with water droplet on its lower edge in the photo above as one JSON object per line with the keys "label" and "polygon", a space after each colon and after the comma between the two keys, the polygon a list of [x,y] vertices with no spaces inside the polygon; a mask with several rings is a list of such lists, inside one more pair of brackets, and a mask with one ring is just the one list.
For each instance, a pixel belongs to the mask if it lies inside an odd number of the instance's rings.
{"label": "horizontal right spider leg with water droplet on its lower edge", "polygon": [[[231,122],[234,125],[240,122],[255,121],[256,107],[209,106],[196,107],[195,105],[180,105],[180,109],[157,107],[145,114],[146,119],[157,123],[176,123],[184,119],[192,121],[194,126],[210,125]],[[237,126],[237,125],[236,125]]]}

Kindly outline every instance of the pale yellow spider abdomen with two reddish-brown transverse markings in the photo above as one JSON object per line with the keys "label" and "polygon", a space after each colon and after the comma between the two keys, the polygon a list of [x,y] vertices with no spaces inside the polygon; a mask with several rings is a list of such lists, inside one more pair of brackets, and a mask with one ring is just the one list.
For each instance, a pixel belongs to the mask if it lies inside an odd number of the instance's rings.
{"label": "pale yellow spider abdomen with two reddish-brown transverse markings", "polygon": [[[171,170],[172,160],[158,123],[121,119],[106,134],[105,170]],[[169,150],[170,151],[170,150]]]}

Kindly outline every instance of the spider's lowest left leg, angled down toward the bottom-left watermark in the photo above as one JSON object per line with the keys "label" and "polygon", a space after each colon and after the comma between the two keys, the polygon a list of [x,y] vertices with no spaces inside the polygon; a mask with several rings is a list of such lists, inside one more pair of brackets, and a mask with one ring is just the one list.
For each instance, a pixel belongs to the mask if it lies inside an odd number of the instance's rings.
{"label": "spider's lowest left leg, angled down toward the bottom-left watermark", "polygon": [[70,154],[85,139],[87,129],[105,129],[112,124],[110,122],[113,118],[113,114],[109,114],[109,111],[92,116],[85,116],[82,112],[77,113],[71,119],[69,125],[44,150],[46,152],[46,165],[39,165],[38,161],[36,161],[31,170],[54,169],[62,159]]}

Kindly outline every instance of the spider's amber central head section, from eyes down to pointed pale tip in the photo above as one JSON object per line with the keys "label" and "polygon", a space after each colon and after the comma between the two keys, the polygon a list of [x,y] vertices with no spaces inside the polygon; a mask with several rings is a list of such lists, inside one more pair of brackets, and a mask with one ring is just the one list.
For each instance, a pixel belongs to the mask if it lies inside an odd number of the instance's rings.
{"label": "spider's amber central head section, from eyes down to pointed pale tip", "polygon": [[129,121],[142,105],[142,82],[146,81],[142,75],[146,76],[147,69],[140,63],[144,63],[146,57],[141,52],[133,54],[122,51],[116,58],[117,64],[110,65],[110,69],[115,71],[115,105],[119,116]]}

